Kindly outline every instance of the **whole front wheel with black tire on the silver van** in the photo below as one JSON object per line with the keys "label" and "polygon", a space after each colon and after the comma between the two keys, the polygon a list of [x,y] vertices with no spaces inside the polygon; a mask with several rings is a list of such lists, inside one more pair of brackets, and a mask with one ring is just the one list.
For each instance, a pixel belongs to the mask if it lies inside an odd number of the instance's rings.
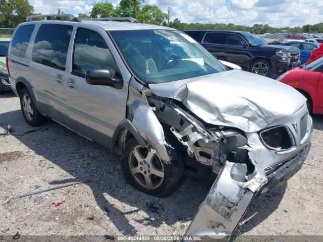
{"label": "whole front wheel with black tire on the silver van", "polygon": [[180,185],[184,164],[173,150],[171,164],[165,164],[157,154],[142,148],[135,138],[125,146],[121,167],[127,182],[141,192],[155,197],[166,197]]}

